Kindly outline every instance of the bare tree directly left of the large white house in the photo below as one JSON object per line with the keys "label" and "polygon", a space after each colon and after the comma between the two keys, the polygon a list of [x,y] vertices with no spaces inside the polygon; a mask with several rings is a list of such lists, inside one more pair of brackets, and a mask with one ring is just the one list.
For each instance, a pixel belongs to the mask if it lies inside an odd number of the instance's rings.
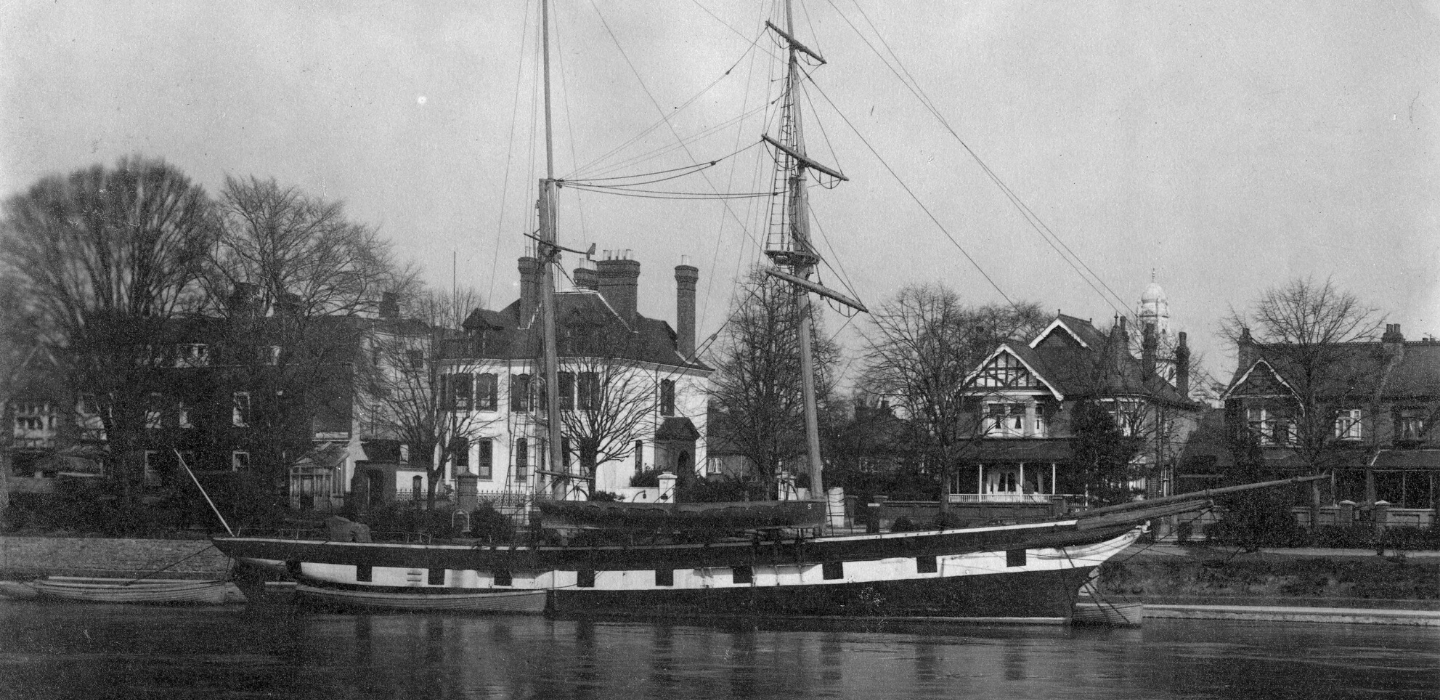
{"label": "bare tree directly left of the large white house", "polygon": [[425,506],[435,508],[446,467],[468,459],[469,445],[494,419],[477,402],[477,364],[452,349],[464,347],[458,330],[480,292],[423,291],[395,317],[377,318],[370,353],[360,363],[361,403],[376,432],[389,435],[428,461]]}

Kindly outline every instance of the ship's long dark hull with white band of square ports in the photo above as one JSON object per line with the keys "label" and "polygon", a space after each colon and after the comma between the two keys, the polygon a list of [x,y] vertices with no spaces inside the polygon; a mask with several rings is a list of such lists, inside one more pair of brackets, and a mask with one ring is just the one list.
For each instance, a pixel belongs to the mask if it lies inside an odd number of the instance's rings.
{"label": "ship's long dark hull with white band of square ports", "polygon": [[544,592],[546,612],[559,616],[1063,622],[1090,573],[1139,533],[1071,521],[636,547],[251,537],[222,537],[216,546],[243,562],[284,562],[311,599],[364,603],[350,606],[458,611],[471,596],[482,611],[487,593]]}

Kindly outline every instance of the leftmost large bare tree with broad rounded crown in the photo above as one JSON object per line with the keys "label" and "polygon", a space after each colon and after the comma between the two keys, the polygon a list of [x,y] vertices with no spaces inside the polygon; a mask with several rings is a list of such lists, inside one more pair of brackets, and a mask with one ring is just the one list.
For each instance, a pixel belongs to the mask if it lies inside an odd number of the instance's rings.
{"label": "leftmost large bare tree with broad rounded crown", "polygon": [[174,362],[168,321],[199,307],[217,232],[200,186],[141,157],[45,177],[4,203],[0,258],[40,341],[94,399],[125,508],[138,504],[147,400]]}

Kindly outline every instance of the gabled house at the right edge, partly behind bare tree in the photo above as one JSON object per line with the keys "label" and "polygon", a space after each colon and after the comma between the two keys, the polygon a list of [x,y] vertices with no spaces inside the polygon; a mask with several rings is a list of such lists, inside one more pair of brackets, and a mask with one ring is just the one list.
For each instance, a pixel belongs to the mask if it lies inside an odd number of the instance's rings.
{"label": "gabled house at the right edge, partly behind bare tree", "polygon": [[[1225,387],[1227,426],[1250,436],[1267,472],[1323,474],[1296,516],[1302,526],[1434,524],[1440,488],[1440,343],[1407,341],[1387,324],[1377,341],[1297,347],[1237,343]],[[1220,452],[1217,461],[1234,455]]]}

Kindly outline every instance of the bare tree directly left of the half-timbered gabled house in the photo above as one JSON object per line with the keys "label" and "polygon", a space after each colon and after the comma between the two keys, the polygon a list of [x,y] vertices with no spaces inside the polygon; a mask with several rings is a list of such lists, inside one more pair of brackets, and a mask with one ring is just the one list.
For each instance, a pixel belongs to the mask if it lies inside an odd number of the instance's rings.
{"label": "bare tree directly left of the half-timbered gabled house", "polygon": [[966,307],[953,290],[930,284],[901,288],[870,318],[863,386],[912,422],[948,511],[950,474],[985,435],[968,377],[998,343],[1034,334],[1045,317],[1037,304]]}

